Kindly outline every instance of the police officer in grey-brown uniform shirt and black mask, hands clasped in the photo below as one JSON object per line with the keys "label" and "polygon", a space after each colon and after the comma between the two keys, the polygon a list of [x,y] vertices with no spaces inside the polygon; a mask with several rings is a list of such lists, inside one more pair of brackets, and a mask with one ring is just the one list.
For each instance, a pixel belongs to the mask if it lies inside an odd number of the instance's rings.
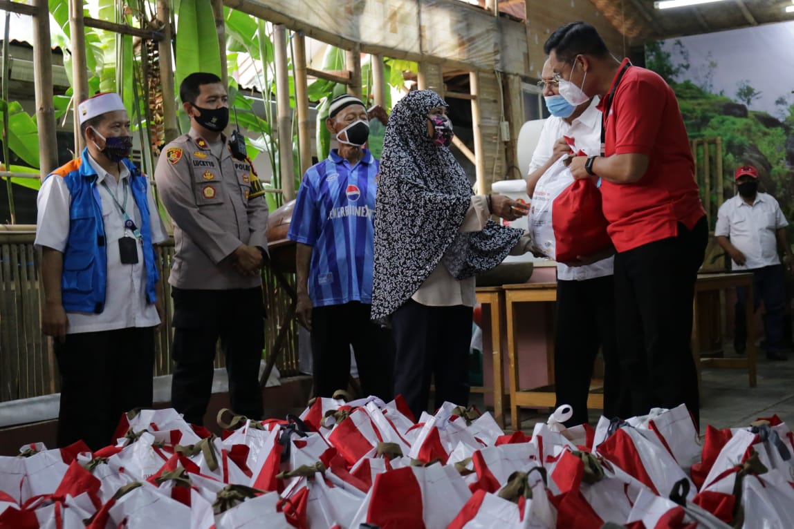
{"label": "police officer in grey-brown uniform shirt and black mask, hands clasped", "polygon": [[229,102],[221,79],[188,75],[179,97],[191,129],[166,145],[155,171],[176,245],[168,280],[174,300],[172,404],[188,422],[203,423],[220,338],[232,409],[260,419],[264,190],[245,154],[222,132]]}

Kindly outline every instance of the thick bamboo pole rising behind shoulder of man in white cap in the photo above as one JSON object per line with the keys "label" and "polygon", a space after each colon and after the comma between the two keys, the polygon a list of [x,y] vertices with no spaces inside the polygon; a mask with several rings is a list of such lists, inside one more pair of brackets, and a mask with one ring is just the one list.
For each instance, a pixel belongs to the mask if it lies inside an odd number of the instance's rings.
{"label": "thick bamboo pole rising behind shoulder of man in white cap", "polygon": [[55,108],[52,105],[52,46],[50,44],[47,0],[34,0],[38,9],[33,17],[33,84],[36,98],[36,122],[39,129],[39,169],[44,178],[58,167]]}

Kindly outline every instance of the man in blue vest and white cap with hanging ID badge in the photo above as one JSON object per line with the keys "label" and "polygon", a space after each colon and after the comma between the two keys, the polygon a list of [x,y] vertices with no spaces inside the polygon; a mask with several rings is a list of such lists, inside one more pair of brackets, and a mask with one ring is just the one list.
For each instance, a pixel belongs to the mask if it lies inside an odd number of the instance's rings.
{"label": "man in blue vest and white cap with hanging ID badge", "polygon": [[153,244],[167,238],[118,94],[78,106],[79,159],[44,180],[38,196],[44,307],[61,375],[59,447],[114,442],[122,412],[152,405],[154,330],[160,325]]}

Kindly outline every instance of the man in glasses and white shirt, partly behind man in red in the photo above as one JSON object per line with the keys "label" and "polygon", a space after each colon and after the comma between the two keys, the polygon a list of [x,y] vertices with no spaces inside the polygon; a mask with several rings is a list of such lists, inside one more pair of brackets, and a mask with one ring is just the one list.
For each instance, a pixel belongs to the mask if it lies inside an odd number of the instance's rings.
{"label": "man in glasses and white shirt, partly behind man in red", "polygon": [[[565,101],[547,60],[543,65],[542,89],[546,108],[552,114],[545,121],[526,178],[532,196],[545,171],[571,148],[563,136],[573,138],[576,149],[598,155],[601,148],[601,111],[595,97],[578,106]],[[614,250],[612,250],[614,251]],[[619,366],[615,365],[615,288],[612,282],[614,258],[611,252],[588,256],[580,263],[557,263],[557,335],[554,349],[554,387],[557,406],[573,408],[567,426],[588,422],[588,393],[593,362],[602,349],[604,373],[604,416],[615,416],[620,389]],[[569,266],[574,265],[574,266]]]}

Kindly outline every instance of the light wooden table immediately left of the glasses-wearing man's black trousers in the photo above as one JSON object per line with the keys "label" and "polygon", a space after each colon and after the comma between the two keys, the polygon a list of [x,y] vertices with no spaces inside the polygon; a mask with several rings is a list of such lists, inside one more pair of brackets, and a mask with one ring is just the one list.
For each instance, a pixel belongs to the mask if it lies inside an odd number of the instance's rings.
{"label": "light wooden table immediately left of the glasses-wearing man's black trousers", "polygon": [[[508,378],[510,381],[510,417],[514,430],[521,428],[518,420],[518,408],[553,408],[557,404],[557,395],[554,393],[554,305],[557,301],[557,282],[524,283],[521,285],[504,285],[504,303],[507,320],[507,355],[509,358]],[[518,340],[516,331],[517,321],[515,304],[517,303],[548,303],[548,317],[546,319],[546,370],[549,385],[534,389],[520,389],[518,370]],[[603,409],[603,393],[594,393],[600,389],[599,381],[593,381],[588,397],[588,408]],[[594,386],[595,384],[595,386]]]}

